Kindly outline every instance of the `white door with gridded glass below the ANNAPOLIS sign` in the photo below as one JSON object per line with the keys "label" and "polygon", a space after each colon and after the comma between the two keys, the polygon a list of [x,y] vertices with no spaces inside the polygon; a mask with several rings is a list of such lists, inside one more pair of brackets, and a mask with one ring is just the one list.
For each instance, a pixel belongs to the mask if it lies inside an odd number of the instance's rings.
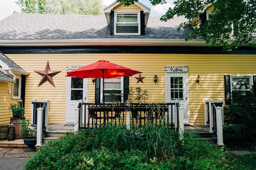
{"label": "white door with gridded glass below the ANNAPOLIS sign", "polygon": [[184,107],[184,123],[189,123],[187,73],[166,73],[165,88],[166,102],[171,103],[175,102],[174,100],[179,100],[180,106]]}

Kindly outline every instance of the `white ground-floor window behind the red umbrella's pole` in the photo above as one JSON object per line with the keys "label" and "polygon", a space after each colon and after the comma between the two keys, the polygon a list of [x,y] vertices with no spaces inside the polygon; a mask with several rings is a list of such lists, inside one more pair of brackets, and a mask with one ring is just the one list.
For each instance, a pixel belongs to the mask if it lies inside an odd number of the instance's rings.
{"label": "white ground-floor window behind the red umbrella's pole", "polygon": [[104,79],[104,91],[106,103],[123,102],[123,77]]}

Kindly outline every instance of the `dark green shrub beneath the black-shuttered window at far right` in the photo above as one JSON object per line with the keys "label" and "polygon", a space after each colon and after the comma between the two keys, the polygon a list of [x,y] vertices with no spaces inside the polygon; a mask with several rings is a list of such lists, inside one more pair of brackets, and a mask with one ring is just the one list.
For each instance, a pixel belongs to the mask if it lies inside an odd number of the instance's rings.
{"label": "dark green shrub beneath the black-shuttered window at far right", "polygon": [[[255,88],[255,87],[254,87]],[[224,108],[223,137],[229,147],[247,146],[256,141],[256,94],[235,91],[232,105]]]}

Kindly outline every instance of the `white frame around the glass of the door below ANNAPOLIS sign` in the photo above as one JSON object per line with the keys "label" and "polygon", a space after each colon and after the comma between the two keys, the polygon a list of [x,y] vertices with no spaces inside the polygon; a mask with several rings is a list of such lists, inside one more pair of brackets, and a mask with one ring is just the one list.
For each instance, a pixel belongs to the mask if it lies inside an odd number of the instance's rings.
{"label": "white frame around the glass of the door below ANNAPOLIS sign", "polygon": [[[174,102],[171,100],[171,79],[170,77],[183,77],[183,100],[187,104],[187,117],[184,118],[184,123],[189,124],[189,98],[188,98],[188,73],[165,73],[165,100],[166,103]],[[186,100],[187,99],[187,100]],[[185,103],[184,103],[185,104]],[[176,107],[176,106],[175,106]],[[186,114],[186,111],[185,111]]]}

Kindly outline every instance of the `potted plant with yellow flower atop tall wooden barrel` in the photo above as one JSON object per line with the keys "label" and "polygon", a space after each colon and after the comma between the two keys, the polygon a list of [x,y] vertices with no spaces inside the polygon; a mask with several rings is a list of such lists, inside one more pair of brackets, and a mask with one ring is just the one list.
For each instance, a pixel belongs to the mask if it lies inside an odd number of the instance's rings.
{"label": "potted plant with yellow flower atop tall wooden barrel", "polygon": [[12,117],[10,118],[10,124],[14,124],[15,139],[21,139],[21,121],[25,120],[25,110],[21,107],[22,100],[18,100],[17,104],[10,103],[9,109],[12,111]]}

